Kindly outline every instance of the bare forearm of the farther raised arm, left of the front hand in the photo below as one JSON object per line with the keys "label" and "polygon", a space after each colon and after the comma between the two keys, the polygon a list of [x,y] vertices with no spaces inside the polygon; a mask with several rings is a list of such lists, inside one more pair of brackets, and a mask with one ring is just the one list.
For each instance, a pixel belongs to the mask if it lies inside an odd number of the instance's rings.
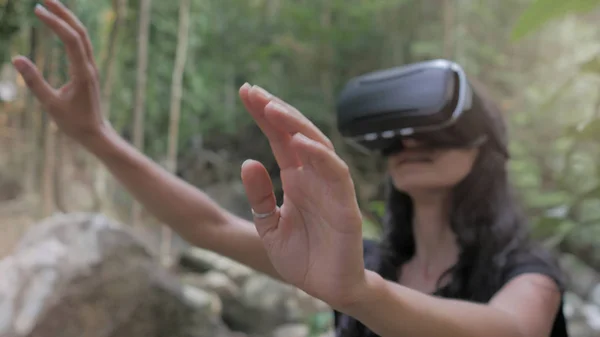
{"label": "bare forearm of the farther raised arm, left of the front hand", "polygon": [[82,145],[152,215],[193,245],[278,277],[254,225],[144,156],[107,127]]}

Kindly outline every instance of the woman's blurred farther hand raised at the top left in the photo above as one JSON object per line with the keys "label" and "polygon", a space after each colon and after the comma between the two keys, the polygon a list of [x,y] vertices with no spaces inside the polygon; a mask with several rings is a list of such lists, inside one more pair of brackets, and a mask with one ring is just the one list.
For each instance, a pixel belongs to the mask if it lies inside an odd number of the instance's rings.
{"label": "woman's blurred farther hand raised at the top left", "polygon": [[65,45],[69,60],[68,83],[53,88],[26,57],[16,57],[13,64],[59,129],[86,143],[108,125],[102,116],[98,70],[91,42],[85,27],[63,4],[46,0],[45,5],[46,8],[38,5],[35,14]]}

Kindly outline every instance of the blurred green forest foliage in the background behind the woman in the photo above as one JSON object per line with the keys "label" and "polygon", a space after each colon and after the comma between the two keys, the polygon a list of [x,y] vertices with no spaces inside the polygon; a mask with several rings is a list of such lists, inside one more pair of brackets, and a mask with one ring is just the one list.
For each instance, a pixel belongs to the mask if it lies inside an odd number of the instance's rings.
{"label": "blurred green forest foliage in the background behind the woman", "polygon": [[[89,30],[104,84],[113,63],[104,103],[111,122],[132,139],[140,1],[66,3]],[[60,46],[34,20],[35,4],[0,0],[0,64],[17,53],[51,60],[48,50]],[[143,150],[159,162],[167,153],[179,5],[154,1],[150,11]],[[192,0],[177,174],[201,187],[237,180],[239,164],[251,157],[278,184],[268,144],[237,97],[244,82],[258,84],[331,136],[353,169],[365,235],[376,237],[382,163],[340,140],[336,94],[358,74],[446,57],[485,83],[505,110],[510,168],[536,236],[600,269],[593,245],[600,241],[599,7],[600,0]],[[39,111],[31,104],[23,111],[25,117],[13,118],[23,129],[47,122],[36,124]],[[219,160],[194,164],[207,153]]]}

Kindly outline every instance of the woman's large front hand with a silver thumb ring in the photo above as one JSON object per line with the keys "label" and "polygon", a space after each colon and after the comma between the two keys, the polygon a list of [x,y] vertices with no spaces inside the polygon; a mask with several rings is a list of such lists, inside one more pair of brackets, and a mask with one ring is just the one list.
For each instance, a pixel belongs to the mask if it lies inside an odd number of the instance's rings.
{"label": "woman's large front hand with a silver thumb ring", "polygon": [[[362,217],[346,163],[304,115],[259,87],[244,85],[242,101],[269,139],[281,170],[284,201],[276,208],[264,166],[242,165],[254,222],[271,263],[290,284],[334,308],[365,290]],[[274,212],[273,212],[274,211]]]}

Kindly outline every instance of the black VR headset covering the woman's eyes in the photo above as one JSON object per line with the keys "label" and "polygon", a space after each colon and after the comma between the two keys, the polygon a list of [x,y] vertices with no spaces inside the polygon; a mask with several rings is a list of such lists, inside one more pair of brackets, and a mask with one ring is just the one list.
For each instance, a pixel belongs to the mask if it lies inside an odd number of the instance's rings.
{"label": "black VR headset covering the woman's eyes", "polygon": [[[401,151],[402,139],[431,147],[470,147],[487,140],[480,99],[463,69],[432,60],[351,79],[337,102],[337,127],[367,153]],[[478,111],[475,111],[478,112]]]}

